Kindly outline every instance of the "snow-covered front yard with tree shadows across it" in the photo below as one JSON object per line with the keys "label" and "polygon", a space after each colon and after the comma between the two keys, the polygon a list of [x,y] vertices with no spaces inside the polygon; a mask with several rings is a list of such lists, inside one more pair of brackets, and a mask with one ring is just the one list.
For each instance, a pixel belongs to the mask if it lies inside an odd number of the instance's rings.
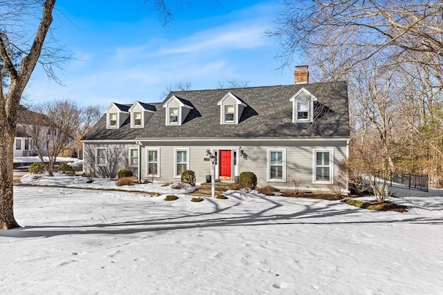
{"label": "snow-covered front yard with tree shadows across it", "polygon": [[395,190],[397,213],[70,179],[51,181],[82,189],[15,187],[24,227],[0,231],[0,294],[443,294],[442,191]]}

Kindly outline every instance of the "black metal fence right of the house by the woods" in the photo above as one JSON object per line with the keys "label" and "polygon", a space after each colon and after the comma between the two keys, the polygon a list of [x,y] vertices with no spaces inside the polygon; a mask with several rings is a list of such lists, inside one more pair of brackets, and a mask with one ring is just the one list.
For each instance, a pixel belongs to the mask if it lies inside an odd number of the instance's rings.
{"label": "black metal fence right of the house by the woods", "polygon": [[411,174],[397,171],[377,171],[378,178],[386,180],[389,187],[401,189],[415,189],[417,191],[428,191],[428,175]]}

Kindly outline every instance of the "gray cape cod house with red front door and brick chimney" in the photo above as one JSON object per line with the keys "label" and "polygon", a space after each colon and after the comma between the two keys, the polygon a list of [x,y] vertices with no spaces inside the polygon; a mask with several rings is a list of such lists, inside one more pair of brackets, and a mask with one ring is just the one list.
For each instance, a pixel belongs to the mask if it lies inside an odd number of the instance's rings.
{"label": "gray cape cod house with red front door and brick chimney", "polygon": [[195,171],[234,181],[242,171],[259,185],[322,191],[342,182],[338,164],[350,140],[347,84],[309,84],[307,66],[295,84],[173,91],[164,102],[112,103],[83,138],[84,173],[171,182]]}

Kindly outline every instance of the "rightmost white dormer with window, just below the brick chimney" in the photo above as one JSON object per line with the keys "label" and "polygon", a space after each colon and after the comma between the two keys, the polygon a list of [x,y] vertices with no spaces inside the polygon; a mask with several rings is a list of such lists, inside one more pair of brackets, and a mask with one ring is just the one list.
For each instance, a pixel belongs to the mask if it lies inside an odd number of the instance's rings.
{"label": "rightmost white dormer with window, just below the brick chimney", "polygon": [[317,98],[305,88],[301,88],[289,102],[292,102],[292,122],[312,122],[314,101]]}

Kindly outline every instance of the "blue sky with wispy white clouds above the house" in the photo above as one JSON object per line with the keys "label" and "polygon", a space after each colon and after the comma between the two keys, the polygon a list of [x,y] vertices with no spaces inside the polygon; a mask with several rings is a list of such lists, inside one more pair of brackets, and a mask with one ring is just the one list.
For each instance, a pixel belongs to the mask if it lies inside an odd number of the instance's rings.
{"label": "blue sky with wispy white clouds above the house", "polygon": [[185,81],[193,90],[227,86],[232,79],[248,86],[293,83],[293,68],[277,70],[278,45],[264,36],[282,9],[277,1],[189,3],[173,4],[174,20],[162,26],[149,2],[57,1],[54,34],[75,59],[57,71],[63,86],[36,68],[25,103],[161,102],[168,86]]}

